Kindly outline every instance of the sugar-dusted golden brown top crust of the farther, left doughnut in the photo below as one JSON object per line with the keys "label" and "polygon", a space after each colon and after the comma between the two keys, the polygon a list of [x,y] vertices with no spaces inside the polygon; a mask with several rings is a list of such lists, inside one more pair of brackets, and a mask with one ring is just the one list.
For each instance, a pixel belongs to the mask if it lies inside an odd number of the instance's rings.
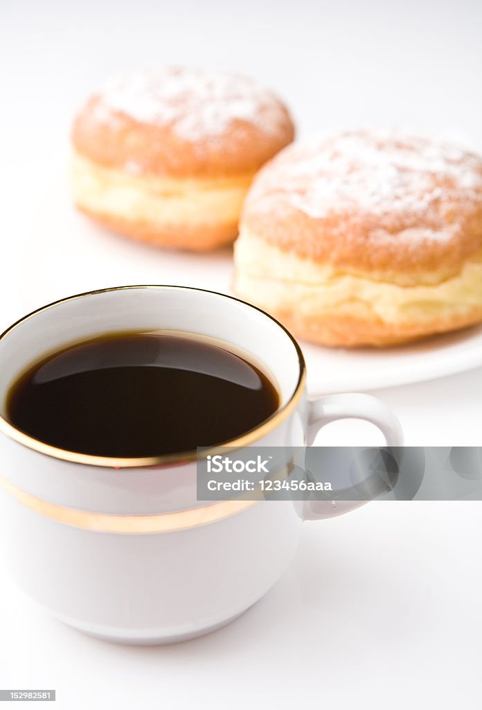
{"label": "sugar-dusted golden brown top crust of the farther, left doughnut", "polygon": [[94,163],[177,178],[254,173],[293,136],[288,109],[256,82],[178,67],[118,77],[72,129]]}

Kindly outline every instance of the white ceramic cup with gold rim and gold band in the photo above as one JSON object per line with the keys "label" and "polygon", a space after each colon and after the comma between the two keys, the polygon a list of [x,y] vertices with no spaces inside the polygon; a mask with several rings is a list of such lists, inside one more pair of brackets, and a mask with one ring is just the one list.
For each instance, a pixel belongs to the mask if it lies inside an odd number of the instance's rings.
{"label": "white ceramic cup with gold rim and gold band", "polygon": [[[196,501],[196,452],[94,457],[43,444],[9,423],[6,395],[30,364],[71,342],[131,329],[203,334],[264,363],[281,405],[229,446],[303,446],[342,417],[373,422],[390,446],[400,446],[402,435],[396,417],[369,395],[308,402],[293,337],[226,295],[112,288],[58,301],[9,328],[0,337],[0,497],[13,578],[86,633],[169,643],[223,626],[260,599],[296,552],[303,510],[290,501]],[[342,510],[330,503],[315,515]]]}

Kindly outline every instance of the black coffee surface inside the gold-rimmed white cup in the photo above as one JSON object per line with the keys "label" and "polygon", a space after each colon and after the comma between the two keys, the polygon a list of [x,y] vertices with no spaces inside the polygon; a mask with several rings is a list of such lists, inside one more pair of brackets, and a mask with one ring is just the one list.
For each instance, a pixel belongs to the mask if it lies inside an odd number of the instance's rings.
{"label": "black coffee surface inside the gold-rimmed white cup", "polygon": [[10,422],[84,454],[152,457],[229,442],[279,406],[254,364],[181,334],[127,333],[78,343],[13,384]]}

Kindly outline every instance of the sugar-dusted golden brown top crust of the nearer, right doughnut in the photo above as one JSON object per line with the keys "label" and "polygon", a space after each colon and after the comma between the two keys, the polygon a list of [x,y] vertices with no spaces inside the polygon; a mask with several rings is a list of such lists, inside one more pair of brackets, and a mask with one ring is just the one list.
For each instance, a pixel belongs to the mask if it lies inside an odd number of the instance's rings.
{"label": "sugar-dusted golden brown top crust of the nearer, right doughnut", "polygon": [[243,230],[354,273],[449,278],[482,249],[482,158],[392,131],[294,143],[255,178]]}

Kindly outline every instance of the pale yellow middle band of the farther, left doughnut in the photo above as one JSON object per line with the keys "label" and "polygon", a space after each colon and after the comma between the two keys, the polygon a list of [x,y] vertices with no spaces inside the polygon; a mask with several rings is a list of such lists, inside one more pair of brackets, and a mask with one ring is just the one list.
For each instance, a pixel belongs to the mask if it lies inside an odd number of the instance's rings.
{"label": "pale yellow middle band of the farther, left doughnut", "polygon": [[79,207],[155,230],[169,226],[237,224],[252,175],[203,180],[138,175],[72,157]]}

